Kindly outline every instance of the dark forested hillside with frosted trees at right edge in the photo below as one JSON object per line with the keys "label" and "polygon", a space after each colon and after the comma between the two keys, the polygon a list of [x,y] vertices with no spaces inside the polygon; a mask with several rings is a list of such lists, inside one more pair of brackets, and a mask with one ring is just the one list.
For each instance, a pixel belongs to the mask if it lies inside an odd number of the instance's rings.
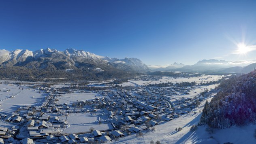
{"label": "dark forested hillside with frosted trees at right edge", "polygon": [[256,121],[256,70],[222,80],[218,89],[205,104],[199,125],[222,129]]}

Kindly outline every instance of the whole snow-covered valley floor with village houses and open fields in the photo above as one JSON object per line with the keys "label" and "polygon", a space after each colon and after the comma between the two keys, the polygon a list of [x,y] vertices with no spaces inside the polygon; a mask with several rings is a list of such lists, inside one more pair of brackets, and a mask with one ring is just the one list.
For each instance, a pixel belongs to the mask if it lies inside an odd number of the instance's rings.
{"label": "whole snow-covered valley floor with village houses and open fields", "polygon": [[[183,127],[183,123],[175,121],[200,115],[200,106],[215,95],[217,82],[222,78],[225,76],[140,76],[116,85],[94,81],[50,87],[43,83],[1,81],[0,140],[17,144],[118,143],[136,136],[140,142],[144,135],[161,130],[156,125],[173,123],[175,131],[188,130],[191,125]],[[209,82],[216,83],[208,85]],[[161,84],[165,85],[159,87]],[[104,90],[89,91],[84,87]]]}

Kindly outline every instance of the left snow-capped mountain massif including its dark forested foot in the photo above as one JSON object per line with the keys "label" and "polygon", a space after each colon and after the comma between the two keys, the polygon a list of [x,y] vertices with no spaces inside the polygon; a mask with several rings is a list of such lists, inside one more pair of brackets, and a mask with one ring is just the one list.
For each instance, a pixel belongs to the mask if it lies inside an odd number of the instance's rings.
{"label": "left snow-capped mountain massif including its dark forested foot", "polygon": [[117,78],[147,71],[149,68],[136,58],[109,58],[83,50],[0,50],[1,78],[84,80]]}

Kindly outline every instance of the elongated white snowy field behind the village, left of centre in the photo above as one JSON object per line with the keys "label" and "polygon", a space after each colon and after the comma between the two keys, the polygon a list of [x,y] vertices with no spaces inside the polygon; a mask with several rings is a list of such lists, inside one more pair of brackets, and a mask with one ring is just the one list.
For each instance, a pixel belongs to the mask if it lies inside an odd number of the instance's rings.
{"label": "elongated white snowy field behind the village, left of centre", "polygon": [[59,104],[70,104],[72,102],[77,102],[78,101],[82,101],[82,100],[91,100],[96,98],[96,96],[100,97],[102,95],[100,95],[99,93],[67,93],[62,95],[61,97],[58,97],[58,99],[60,99],[58,101]]}

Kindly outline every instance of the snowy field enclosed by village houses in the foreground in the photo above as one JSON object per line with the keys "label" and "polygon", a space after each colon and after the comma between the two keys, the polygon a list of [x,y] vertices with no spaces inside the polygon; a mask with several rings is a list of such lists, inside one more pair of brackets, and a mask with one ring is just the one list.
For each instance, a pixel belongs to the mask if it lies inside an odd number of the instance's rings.
{"label": "snowy field enclosed by village houses in the foreground", "polygon": [[62,133],[80,133],[90,131],[90,127],[95,130],[108,130],[113,129],[110,123],[99,124],[98,116],[92,113],[73,113],[67,117],[67,122],[70,127],[64,129]]}

